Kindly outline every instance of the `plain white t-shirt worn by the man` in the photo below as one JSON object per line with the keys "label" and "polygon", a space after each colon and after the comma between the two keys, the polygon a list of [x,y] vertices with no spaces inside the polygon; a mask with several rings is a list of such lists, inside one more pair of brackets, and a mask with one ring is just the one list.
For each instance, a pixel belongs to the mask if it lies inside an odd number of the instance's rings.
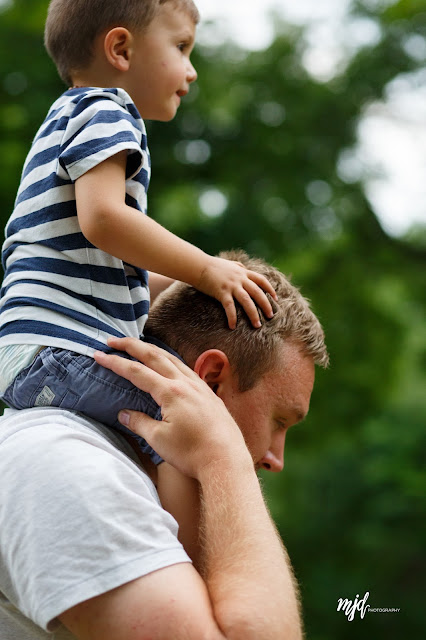
{"label": "plain white t-shirt worn by the man", "polygon": [[70,639],[61,613],[181,562],[177,523],[118,433],[60,409],[6,410],[0,638]]}

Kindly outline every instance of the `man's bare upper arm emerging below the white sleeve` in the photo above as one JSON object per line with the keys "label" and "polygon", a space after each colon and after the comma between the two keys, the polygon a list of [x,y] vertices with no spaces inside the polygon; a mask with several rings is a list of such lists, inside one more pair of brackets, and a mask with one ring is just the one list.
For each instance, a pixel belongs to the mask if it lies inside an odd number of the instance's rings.
{"label": "man's bare upper arm emerging below the white sleeve", "polygon": [[87,600],[60,616],[78,640],[224,640],[206,586],[177,564]]}

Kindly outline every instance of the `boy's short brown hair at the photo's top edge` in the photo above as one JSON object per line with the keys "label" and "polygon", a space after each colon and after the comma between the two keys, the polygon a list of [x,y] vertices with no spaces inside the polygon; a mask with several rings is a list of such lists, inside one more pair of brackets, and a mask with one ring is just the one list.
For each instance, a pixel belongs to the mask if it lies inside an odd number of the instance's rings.
{"label": "boy's short brown hair at the photo's top edge", "polygon": [[72,74],[88,67],[99,34],[113,27],[141,31],[166,2],[199,21],[193,0],[51,0],[44,43],[62,80],[71,86]]}

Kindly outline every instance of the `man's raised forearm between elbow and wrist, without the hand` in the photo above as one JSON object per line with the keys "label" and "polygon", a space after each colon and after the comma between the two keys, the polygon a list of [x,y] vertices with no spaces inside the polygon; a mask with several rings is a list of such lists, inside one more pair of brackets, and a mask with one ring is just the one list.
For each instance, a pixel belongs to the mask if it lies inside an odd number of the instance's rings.
{"label": "man's raised forearm between elbow and wrist, without the hand", "polygon": [[301,638],[291,566],[253,467],[209,467],[200,482],[202,575],[225,637]]}

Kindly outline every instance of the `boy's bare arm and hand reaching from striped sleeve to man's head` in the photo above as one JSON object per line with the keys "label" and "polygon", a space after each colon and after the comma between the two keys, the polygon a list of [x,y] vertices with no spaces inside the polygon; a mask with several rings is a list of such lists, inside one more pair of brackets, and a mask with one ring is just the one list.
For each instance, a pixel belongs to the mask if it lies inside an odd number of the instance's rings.
{"label": "boy's bare arm and hand reaching from striped sleeve to man's head", "polygon": [[120,152],[75,183],[77,215],[89,242],[124,262],[187,282],[216,298],[231,328],[236,326],[235,300],[253,326],[260,326],[256,304],[272,317],[265,292],[273,298],[276,294],[266,278],[238,262],[207,255],[125,204],[126,159],[127,152]]}

